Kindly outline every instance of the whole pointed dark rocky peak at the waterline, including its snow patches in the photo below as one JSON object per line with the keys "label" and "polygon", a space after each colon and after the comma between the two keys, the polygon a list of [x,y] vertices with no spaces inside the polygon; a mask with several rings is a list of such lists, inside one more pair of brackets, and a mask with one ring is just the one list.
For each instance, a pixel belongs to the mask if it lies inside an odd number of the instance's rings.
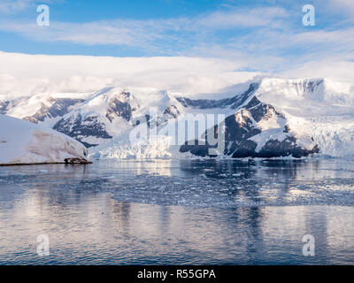
{"label": "whole pointed dark rocky peak at the waterline, including its snow patches", "polygon": [[[180,152],[190,152],[198,157],[215,157],[209,149],[217,148],[211,144],[212,138],[218,138],[223,131],[222,155],[229,157],[306,157],[319,152],[319,147],[310,137],[298,142],[296,134],[291,132],[287,119],[275,108],[261,103],[254,96],[242,109],[228,116],[223,126],[216,125],[206,131],[200,140],[186,142]],[[193,144],[194,143],[194,144]]]}

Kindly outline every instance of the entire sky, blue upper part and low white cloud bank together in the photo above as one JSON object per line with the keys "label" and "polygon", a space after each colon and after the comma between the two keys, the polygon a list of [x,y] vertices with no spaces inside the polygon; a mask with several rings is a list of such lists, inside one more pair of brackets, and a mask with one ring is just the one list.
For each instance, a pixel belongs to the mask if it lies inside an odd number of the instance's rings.
{"label": "entire sky, blue upper part and low white cloud bank together", "polygon": [[[48,27],[36,23],[39,4],[50,9]],[[314,26],[303,24],[305,4],[315,9]],[[132,76],[140,74],[149,87],[162,84],[192,92],[214,91],[259,74],[354,81],[354,1],[0,0],[0,52],[0,82],[32,75],[42,81],[56,77],[57,84],[66,85],[73,76],[83,84],[88,78],[102,84],[123,79],[132,83],[122,77],[129,65],[135,65]],[[45,75],[48,64],[43,62],[49,57],[30,59],[11,53],[56,56],[58,73]],[[89,56],[85,60],[92,64],[96,64],[92,56],[112,57],[115,63],[107,63],[105,73],[97,73],[92,65],[86,66],[87,73],[78,73],[58,62],[65,61],[58,56],[68,55],[77,57],[70,57],[67,64],[77,66],[84,60],[80,56]],[[169,60],[161,63],[160,57]],[[127,58],[143,59],[139,65]],[[161,73],[163,81],[157,79]],[[175,87],[183,82],[188,87]]]}

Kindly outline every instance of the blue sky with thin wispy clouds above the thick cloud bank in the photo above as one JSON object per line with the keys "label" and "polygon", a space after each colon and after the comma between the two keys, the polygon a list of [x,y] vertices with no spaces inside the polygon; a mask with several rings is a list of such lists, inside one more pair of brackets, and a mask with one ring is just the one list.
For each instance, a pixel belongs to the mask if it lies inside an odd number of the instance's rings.
{"label": "blue sky with thin wispy clouds above the thick cloud bank", "polygon": [[[50,27],[36,25],[38,4]],[[316,25],[304,27],[312,4]],[[238,71],[353,60],[352,0],[1,0],[0,50],[112,57],[223,57]]]}

